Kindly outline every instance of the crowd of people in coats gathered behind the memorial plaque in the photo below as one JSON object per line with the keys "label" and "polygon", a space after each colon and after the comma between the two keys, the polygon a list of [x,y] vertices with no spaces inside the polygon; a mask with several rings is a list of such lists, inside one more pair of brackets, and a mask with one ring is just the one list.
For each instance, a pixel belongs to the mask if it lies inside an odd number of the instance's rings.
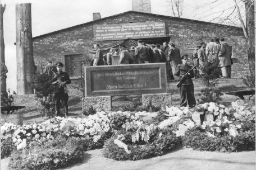
{"label": "crowd of people in coats gathered behind the memorial plaque", "polygon": [[[160,44],[146,45],[144,41],[138,40],[138,46],[131,46],[127,48],[125,45],[120,45],[118,49],[111,48],[103,57],[100,50],[100,45],[94,45],[96,54],[92,65],[120,65],[120,64],[143,64],[143,63],[166,63],[167,71],[171,67],[171,73],[167,73],[169,78],[173,79],[178,65],[182,64],[180,49],[175,47],[173,43],[163,43],[161,48]],[[213,62],[218,68],[221,68],[222,77],[231,76],[231,54],[230,47],[225,39],[219,41],[218,38],[210,39],[209,43],[200,43],[191,53],[191,60],[194,69],[195,78],[204,75],[204,65],[206,62]]]}

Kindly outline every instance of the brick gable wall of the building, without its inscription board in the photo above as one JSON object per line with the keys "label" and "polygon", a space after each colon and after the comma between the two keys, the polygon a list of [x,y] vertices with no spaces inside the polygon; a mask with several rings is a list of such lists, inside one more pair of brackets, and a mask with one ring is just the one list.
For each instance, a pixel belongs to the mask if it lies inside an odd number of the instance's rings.
{"label": "brick gable wall of the building, without its inscription board", "polygon": [[[244,77],[249,72],[246,42],[243,30],[237,27],[227,27],[207,22],[168,18],[147,13],[126,12],[122,15],[103,18],[100,21],[71,27],[52,34],[42,35],[33,39],[35,64],[46,64],[47,61],[63,62],[65,55],[83,54],[84,60],[93,59],[87,48],[93,48],[94,24],[115,24],[130,22],[165,22],[166,35],[181,50],[181,53],[191,54],[193,49],[202,41],[208,43],[209,38],[224,37],[232,46],[233,56],[237,63],[232,65],[232,78]],[[100,45],[119,43],[122,40],[99,41]]]}

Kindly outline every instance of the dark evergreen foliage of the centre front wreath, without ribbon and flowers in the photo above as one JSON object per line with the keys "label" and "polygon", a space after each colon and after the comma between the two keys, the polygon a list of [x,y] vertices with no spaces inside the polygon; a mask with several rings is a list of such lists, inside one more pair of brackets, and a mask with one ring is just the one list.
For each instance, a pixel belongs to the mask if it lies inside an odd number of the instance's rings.
{"label": "dark evergreen foliage of the centre front wreath, without ribbon and flowers", "polygon": [[173,133],[173,129],[168,128],[164,130],[159,130],[153,138],[149,140],[148,143],[139,145],[132,144],[129,141],[125,141],[128,149],[131,150],[131,153],[128,154],[123,148],[119,148],[114,140],[118,135],[126,135],[124,131],[118,131],[111,139],[106,141],[104,145],[103,155],[107,158],[112,158],[115,160],[139,160],[146,159],[154,156],[161,156],[173,148],[181,145],[181,138],[176,137],[176,134]]}

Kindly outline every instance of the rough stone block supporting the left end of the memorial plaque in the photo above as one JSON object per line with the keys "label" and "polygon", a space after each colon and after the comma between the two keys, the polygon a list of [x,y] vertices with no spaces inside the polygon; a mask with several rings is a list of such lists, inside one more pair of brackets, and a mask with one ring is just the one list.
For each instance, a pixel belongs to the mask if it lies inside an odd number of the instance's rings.
{"label": "rough stone block supporting the left end of the memorial plaque", "polygon": [[88,112],[92,107],[95,111],[111,111],[111,96],[82,98],[83,112]]}

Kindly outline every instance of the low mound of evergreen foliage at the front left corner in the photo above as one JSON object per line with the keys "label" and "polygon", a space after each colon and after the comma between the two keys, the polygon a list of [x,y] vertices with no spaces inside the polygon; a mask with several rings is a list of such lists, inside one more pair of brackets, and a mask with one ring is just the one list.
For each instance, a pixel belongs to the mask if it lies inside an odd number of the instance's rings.
{"label": "low mound of evergreen foliage at the front left corner", "polygon": [[30,148],[11,154],[8,169],[57,169],[82,162],[83,140],[57,136],[46,143],[30,143]]}

